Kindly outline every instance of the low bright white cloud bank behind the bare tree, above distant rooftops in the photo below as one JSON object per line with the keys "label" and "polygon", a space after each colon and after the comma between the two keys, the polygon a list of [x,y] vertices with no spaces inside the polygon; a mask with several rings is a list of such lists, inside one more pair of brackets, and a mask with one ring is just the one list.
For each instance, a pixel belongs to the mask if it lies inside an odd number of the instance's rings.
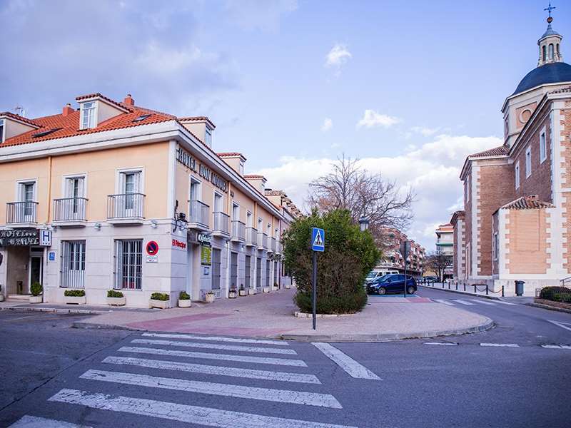
{"label": "low bright white cloud bank behind the bare tree, above distant rooftops", "polygon": [[[435,248],[435,225],[448,223],[453,211],[461,208],[460,170],[470,153],[500,146],[500,138],[442,135],[394,157],[362,158],[360,163],[387,180],[396,180],[404,190],[412,186],[415,221],[407,234],[428,251]],[[268,178],[268,187],[283,189],[301,208],[308,183],[330,171],[335,159],[285,157],[275,168],[258,171]]]}

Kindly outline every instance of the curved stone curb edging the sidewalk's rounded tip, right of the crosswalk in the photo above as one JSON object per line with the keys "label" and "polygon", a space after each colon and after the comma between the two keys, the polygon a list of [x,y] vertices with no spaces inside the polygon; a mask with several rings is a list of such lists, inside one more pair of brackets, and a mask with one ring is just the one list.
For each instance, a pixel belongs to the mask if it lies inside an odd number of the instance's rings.
{"label": "curved stone curb edging the sidewalk's rounded tip, right of the crosswalk", "polygon": [[428,337],[457,336],[469,333],[484,332],[494,327],[495,323],[486,317],[485,322],[472,327],[460,328],[456,330],[435,330],[428,332],[414,333],[380,333],[378,335],[280,335],[281,340],[292,340],[296,342],[393,342],[395,340],[424,339]]}

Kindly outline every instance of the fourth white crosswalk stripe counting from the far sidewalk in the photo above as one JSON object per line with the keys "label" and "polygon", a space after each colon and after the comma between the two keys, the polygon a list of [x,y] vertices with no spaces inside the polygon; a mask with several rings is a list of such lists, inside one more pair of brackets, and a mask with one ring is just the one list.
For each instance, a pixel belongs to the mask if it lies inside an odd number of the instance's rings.
{"label": "fourth white crosswalk stripe counting from the far sidewalk", "polygon": [[180,372],[216,374],[219,376],[247,377],[249,379],[276,380],[279,382],[300,382],[310,384],[320,384],[319,379],[314,374],[270,372],[268,370],[241,369],[238,367],[223,367],[192,364],[190,362],[147,360],[146,358],[131,357],[106,357],[103,362],[117,365],[133,365],[138,367],[149,367],[160,370],[178,370]]}

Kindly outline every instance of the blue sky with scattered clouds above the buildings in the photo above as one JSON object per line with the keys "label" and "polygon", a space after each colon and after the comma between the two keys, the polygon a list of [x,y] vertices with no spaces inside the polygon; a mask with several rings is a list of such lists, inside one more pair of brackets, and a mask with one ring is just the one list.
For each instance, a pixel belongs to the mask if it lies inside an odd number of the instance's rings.
{"label": "blue sky with scattered clouds above the buildings", "polygon": [[[555,3],[553,28],[571,28]],[[59,113],[101,92],[216,123],[213,148],[305,206],[345,154],[412,187],[408,233],[435,248],[470,153],[537,65],[547,1],[0,0],[0,111]]]}

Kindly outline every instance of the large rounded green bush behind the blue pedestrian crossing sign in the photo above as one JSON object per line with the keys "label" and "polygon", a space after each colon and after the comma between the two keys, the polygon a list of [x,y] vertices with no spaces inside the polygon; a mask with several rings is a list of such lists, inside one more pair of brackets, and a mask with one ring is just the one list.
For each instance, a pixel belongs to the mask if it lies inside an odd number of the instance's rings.
{"label": "large rounded green bush behind the blue pedestrian crossing sign", "polygon": [[325,230],[325,252],[318,254],[318,302],[320,314],[357,312],[366,305],[363,287],[368,272],[380,259],[373,236],[353,224],[347,210],[333,210],[323,216],[313,212],[295,220],[283,238],[285,268],[298,286],[295,304],[311,312],[313,251],[311,229]]}

